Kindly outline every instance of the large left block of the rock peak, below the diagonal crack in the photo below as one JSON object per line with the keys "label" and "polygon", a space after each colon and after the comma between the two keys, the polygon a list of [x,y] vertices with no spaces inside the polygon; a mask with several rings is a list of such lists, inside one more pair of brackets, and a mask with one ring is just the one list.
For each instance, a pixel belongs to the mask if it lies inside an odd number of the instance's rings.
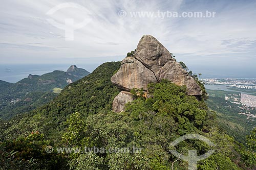
{"label": "large left block of the rock peak, below the diagonal crack", "polygon": [[154,73],[134,57],[126,57],[118,72],[111,78],[119,88],[130,91],[133,88],[147,89],[147,84],[157,82]]}

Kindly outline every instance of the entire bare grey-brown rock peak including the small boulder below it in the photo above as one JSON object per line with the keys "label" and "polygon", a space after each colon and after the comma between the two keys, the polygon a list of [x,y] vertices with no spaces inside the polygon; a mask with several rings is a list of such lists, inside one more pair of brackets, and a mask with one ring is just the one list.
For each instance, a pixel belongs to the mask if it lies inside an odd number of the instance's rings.
{"label": "entire bare grey-brown rock peak including the small boulder below it", "polygon": [[[202,90],[194,78],[170,56],[168,50],[153,36],[144,35],[134,57],[122,60],[120,69],[111,81],[125,91],[133,88],[143,88],[146,91],[148,83],[160,82],[162,79],[180,86],[186,85],[189,95],[202,95]],[[116,112],[123,111],[125,102],[132,100],[125,91],[120,92],[113,102],[113,110]]]}

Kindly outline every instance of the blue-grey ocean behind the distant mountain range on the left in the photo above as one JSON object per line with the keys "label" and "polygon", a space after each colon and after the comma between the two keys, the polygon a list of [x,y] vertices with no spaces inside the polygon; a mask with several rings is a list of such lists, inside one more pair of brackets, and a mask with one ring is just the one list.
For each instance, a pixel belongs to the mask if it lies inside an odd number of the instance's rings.
{"label": "blue-grey ocean behind the distant mountain range on the left", "polygon": [[[70,64],[73,65],[73,64]],[[0,65],[0,80],[10,83],[16,83],[19,80],[27,78],[31,75],[43,75],[54,70],[66,71],[69,64],[28,64],[28,65]],[[75,64],[78,68],[83,68],[92,72],[97,64]]]}

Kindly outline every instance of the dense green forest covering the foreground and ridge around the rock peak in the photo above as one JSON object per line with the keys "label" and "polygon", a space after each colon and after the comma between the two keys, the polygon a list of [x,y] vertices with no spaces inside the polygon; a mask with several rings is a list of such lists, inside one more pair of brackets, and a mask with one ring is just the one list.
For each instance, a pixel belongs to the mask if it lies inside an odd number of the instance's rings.
{"label": "dense green forest covering the foreground and ridge around the rock peak", "polygon": [[[0,120],[1,169],[187,169],[183,155],[215,153],[199,161],[198,169],[245,169],[256,164],[256,130],[247,136],[247,146],[227,134],[216,112],[204,99],[186,94],[185,86],[169,81],[148,84],[152,98],[133,89],[134,101],[125,111],[112,111],[119,93],[110,78],[120,62],[107,62],[89,76],[65,87],[49,104],[12,120]],[[200,84],[203,86],[202,84]],[[180,136],[197,133],[211,140],[189,139],[170,145]],[[51,146],[54,150],[47,153]],[[58,147],[140,148],[140,152],[62,153]]]}

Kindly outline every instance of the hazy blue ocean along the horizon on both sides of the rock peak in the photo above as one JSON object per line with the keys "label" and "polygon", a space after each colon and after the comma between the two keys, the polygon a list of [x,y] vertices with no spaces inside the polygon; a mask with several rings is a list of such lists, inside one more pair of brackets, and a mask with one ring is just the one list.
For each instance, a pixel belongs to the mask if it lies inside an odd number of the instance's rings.
{"label": "hazy blue ocean along the horizon on both sides of the rock peak", "polygon": [[[119,58],[118,58],[119,59]],[[117,59],[112,59],[116,61]],[[120,59],[121,60],[121,59]],[[92,60],[93,63],[88,63],[88,61],[73,63],[78,68],[83,68],[92,72],[100,64],[106,62],[105,58],[99,58],[97,60]],[[27,64],[27,65],[4,65],[0,64],[0,80],[15,83],[23,78],[28,77],[29,74],[32,75],[42,75],[47,72],[52,72],[54,70],[66,71],[71,64]],[[256,78],[256,67],[234,67],[234,66],[202,66],[202,65],[190,65],[189,68],[193,70],[194,73],[201,73],[201,78]]]}

